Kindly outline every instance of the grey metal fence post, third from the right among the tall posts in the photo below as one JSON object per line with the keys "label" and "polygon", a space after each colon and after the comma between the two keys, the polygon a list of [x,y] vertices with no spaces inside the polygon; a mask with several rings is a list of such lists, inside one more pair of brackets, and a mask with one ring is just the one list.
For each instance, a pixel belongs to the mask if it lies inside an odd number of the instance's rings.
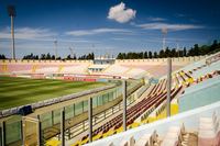
{"label": "grey metal fence post, third from the right among the tall posts", "polygon": [[92,142],[92,98],[88,99],[89,142]]}

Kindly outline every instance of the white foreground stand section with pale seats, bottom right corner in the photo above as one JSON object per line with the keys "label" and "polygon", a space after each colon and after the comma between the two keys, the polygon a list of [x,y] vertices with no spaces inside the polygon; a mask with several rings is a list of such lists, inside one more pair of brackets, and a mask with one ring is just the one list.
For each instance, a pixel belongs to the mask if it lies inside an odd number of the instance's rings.
{"label": "white foreground stand section with pale seats, bottom right corner", "polygon": [[220,102],[110,136],[87,146],[218,146]]}

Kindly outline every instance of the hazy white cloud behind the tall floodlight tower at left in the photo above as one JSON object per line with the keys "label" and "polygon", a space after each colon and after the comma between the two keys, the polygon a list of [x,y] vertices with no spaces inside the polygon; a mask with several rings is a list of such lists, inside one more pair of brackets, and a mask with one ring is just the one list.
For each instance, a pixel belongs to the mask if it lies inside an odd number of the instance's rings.
{"label": "hazy white cloud behind the tall floodlight tower at left", "polygon": [[[42,40],[52,38],[57,34],[47,29],[20,27],[14,30],[14,37],[19,40]],[[0,31],[0,38],[11,38],[10,29]]]}

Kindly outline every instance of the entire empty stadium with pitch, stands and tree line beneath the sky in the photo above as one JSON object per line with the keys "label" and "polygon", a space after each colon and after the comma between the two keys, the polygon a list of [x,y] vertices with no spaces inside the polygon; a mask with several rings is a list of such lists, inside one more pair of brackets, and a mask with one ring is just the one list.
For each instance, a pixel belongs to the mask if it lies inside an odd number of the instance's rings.
{"label": "entire empty stadium with pitch, stands and tree line beneath the sky", "polygon": [[163,38],[152,56],[18,58],[12,30],[12,57],[0,57],[0,146],[220,146],[219,42],[185,55]]}

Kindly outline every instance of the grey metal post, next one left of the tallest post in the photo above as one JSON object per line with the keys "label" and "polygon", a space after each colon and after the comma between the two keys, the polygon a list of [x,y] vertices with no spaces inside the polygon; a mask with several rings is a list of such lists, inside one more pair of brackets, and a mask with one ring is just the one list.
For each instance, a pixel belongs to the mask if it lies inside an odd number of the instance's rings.
{"label": "grey metal post, next one left of the tallest post", "polygon": [[127,131],[127,80],[123,80],[123,131]]}

